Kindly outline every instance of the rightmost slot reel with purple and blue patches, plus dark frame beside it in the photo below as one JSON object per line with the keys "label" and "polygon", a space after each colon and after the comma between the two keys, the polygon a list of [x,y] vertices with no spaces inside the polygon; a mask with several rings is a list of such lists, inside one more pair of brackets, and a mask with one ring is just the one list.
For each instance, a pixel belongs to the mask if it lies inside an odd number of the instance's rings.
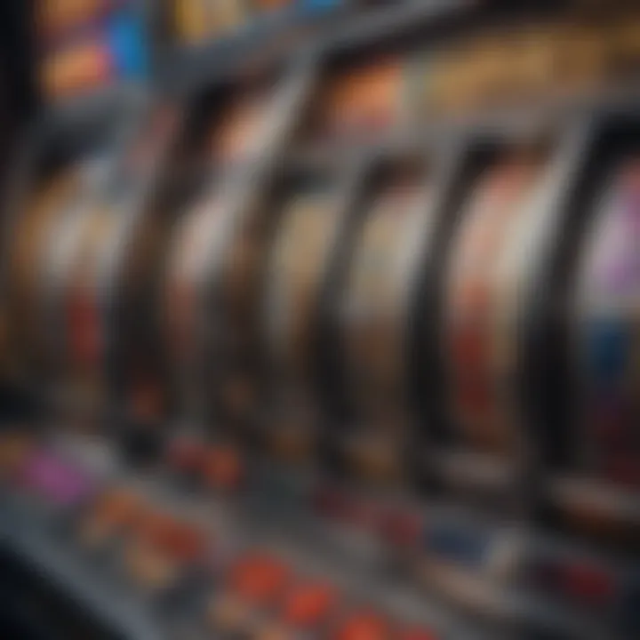
{"label": "rightmost slot reel with purple and blue patches, plus dark frame beside it", "polygon": [[550,253],[545,322],[533,334],[530,356],[548,515],[568,531],[631,547],[639,505],[630,428],[637,251],[628,248],[636,153],[637,123],[628,111],[595,119],[587,160],[569,191],[567,226]]}

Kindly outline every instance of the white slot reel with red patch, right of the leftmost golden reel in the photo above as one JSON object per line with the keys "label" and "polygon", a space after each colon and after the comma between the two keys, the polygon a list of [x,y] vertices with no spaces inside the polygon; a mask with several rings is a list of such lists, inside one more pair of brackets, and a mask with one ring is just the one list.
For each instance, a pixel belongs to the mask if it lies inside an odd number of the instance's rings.
{"label": "white slot reel with red patch, right of the leftmost golden reel", "polygon": [[52,383],[60,410],[93,428],[122,418],[114,360],[123,340],[123,268],[172,130],[171,119],[154,109],[142,108],[132,118],[84,207],[60,223],[60,247],[49,256],[47,307],[57,330],[49,341]]}

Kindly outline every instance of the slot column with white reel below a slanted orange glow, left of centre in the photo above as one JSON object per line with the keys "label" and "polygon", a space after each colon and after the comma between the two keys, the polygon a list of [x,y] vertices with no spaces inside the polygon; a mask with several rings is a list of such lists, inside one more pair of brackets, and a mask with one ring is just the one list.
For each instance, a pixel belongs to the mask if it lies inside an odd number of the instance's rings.
{"label": "slot column with white reel below a slanted orange glow, left of centre", "polygon": [[263,199],[313,76],[295,66],[245,80],[225,87],[213,117],[212,94],[189,116],[175,159],[180,205],[157,281],[177,420],[205,436],[252,418],[256,286],[271,224]]}

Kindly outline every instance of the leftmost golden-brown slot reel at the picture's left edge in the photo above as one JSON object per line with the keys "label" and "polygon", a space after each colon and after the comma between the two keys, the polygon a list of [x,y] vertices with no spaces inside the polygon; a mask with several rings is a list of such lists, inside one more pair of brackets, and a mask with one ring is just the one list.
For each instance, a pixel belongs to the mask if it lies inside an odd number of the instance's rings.
{"label": "leftmost golden-brown slot reel at the picture's left edge", "polygon": [[62,349],[55,299],[64,264],[73,252],[83,212],[116,156],[130,108],[123,105],[113,119],[95,114],[84,127],[45,121],[16,166],[8,233],[19,240],[5,257],[10,335],[15,374],[36,396],[48,393],[43,392]]}

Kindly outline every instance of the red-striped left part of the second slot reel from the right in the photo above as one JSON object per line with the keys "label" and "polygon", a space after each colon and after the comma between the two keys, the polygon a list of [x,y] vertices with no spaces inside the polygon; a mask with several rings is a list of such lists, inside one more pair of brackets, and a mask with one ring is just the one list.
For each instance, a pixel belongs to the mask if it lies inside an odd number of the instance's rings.
{"label": "red-striped left part of the second slot reel from the right", "polygon": [[526,155],[505,158],[480,173],[448,269],[444,332],[454,439],[499,458],[514,450],[517,439],[513,420],[500,414],[496,397],[500,254],[513,241],[514,220],[524,215],[539,175],[540,161]]}

